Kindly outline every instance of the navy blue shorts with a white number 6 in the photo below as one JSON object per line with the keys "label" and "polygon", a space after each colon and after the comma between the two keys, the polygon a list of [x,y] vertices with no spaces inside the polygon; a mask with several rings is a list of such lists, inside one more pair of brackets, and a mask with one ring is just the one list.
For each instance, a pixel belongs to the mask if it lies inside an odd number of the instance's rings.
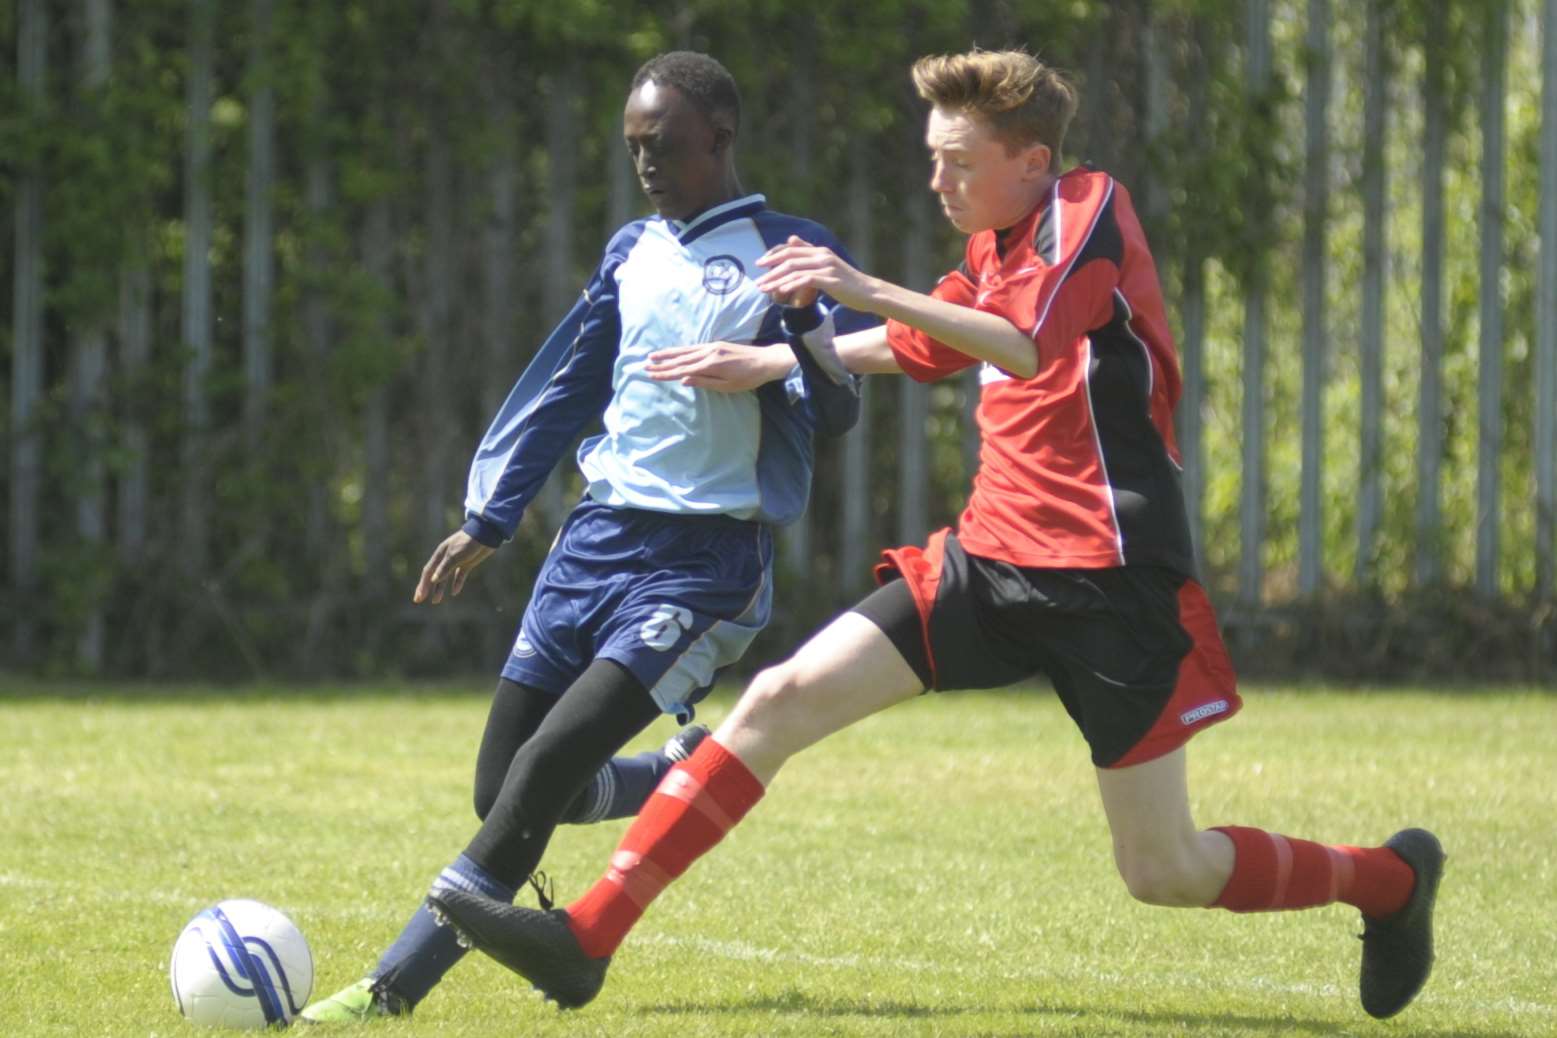
{"label": "navy blue shorts with a white number 6", "polygon": [[540,566],[503,677],[561,696],[615,660],[685,724],[768,624],[772,559],[763,523],[584,500]]}

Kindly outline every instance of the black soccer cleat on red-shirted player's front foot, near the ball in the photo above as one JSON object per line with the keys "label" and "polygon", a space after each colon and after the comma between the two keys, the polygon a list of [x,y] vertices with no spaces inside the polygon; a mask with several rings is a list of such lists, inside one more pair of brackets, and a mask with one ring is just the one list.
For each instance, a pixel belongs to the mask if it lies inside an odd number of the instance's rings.
{"label": "black soccer cleat on red-shirted player's front foot, near the ball", "polygon": [[537,912],[464,890],[433,890],[427,903],[461,945],[503,963],[562,1008],[589,1004],[606,984],[610,956],[587,956],[562,909]]}

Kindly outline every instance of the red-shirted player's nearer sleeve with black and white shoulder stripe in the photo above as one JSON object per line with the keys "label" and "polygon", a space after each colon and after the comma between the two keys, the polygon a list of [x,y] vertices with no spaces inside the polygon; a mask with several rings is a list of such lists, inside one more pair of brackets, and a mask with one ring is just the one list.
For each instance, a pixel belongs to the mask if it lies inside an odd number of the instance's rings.
{"label": "red-shirted player's nearer sleeve with black and white shoulder stripe", "polygon": [[1039,356],[1053,356],[1109,324],[1123,260],[1112,179],[1063,184],[1048,219],[1057,227],[1053,252],[986,285],[976,302],[978,310],[1000,314],[1032,336]]}

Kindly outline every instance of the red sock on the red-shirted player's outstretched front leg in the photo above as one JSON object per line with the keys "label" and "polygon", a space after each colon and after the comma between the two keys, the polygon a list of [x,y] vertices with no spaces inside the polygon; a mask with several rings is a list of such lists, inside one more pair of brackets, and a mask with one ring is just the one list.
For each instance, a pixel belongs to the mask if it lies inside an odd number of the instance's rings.
{"label": "red sock on the red-shirted player's outstretched front leg", "polygon": [[567,909],[584,951],[595,959],[617,951],[649,901],[713,850],[761,795],[757,777],[713,739],[666,772],[617,845],[610,868]]}

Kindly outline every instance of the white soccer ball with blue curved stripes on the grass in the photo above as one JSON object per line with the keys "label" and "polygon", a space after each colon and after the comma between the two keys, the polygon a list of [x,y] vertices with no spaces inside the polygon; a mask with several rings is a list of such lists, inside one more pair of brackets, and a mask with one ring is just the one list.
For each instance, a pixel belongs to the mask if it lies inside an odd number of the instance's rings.
{"label": "white soccer ball with blue curved stripes on the grass", "polygon": [[313,993],[313,952],[290,918],[235,898],[190,920],[168,979],[179,1012],[202,1027],[285,1027]]}

